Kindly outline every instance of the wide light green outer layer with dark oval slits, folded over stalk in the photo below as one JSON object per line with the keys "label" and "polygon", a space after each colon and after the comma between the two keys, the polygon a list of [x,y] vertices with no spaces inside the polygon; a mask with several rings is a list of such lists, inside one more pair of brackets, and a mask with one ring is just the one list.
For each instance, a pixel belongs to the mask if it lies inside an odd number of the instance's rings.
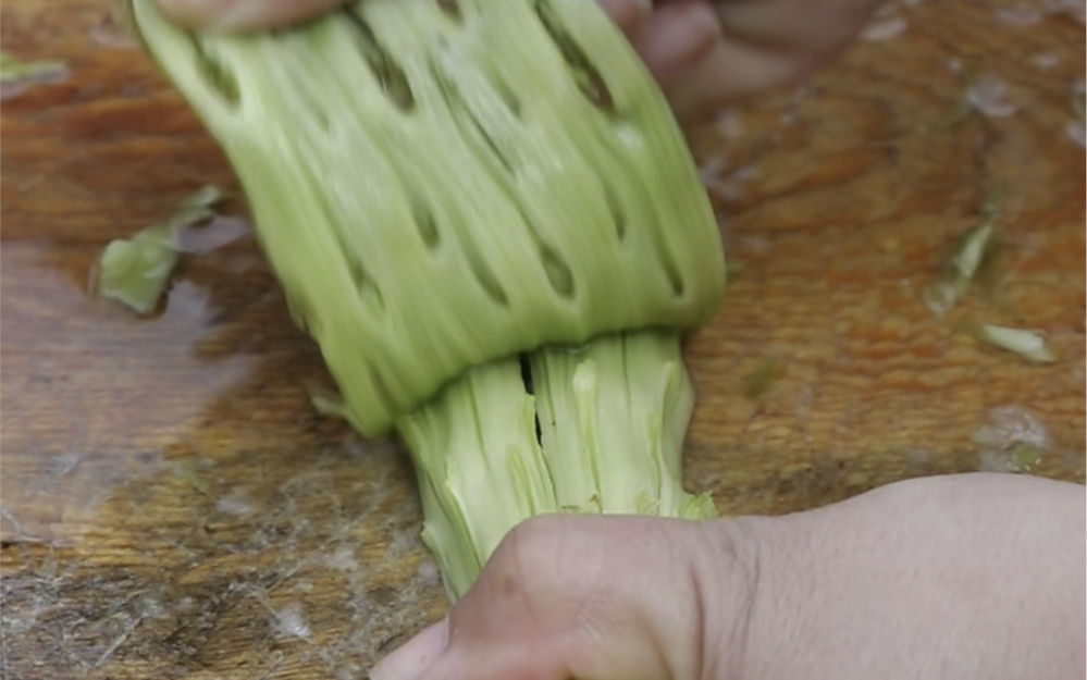
{"label": "wide light green outer layer with dark oval slits, folded over stalk", "polygon": [[[473,366],[694,327],[724,290],[682,134],[600,9],[458,7],[460,18],[436,0],[367,0],[348,5],[355,18],[193,37],[153,0],[134,3],[149,49],[234,163],[367,435]],[[541,13],[569,38],[557,42]],[[559,44],[595,65],[609,103],[586,95],[592,78]]]}

